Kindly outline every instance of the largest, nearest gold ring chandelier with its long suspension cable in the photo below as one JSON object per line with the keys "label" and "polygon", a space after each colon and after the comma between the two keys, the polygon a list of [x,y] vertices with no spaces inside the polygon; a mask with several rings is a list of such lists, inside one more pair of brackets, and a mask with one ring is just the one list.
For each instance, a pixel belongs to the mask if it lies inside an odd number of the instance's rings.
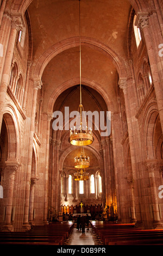
{"label": "largest, nearest gold ring chandelier with its long suspension cable", "polygon": [[[80,40],[80,0],[79,0],[79,40]],[[93,142],[93,135],[91,128],[88,129],[86,118],[85,127],[83,127],[82,121],[82,111],[84,113],[84,108],[82,105],[82,68],[81,68],[81,42],[80,42],[80,104],[78,108],[78,113],[80,113],[80,126],[74,126],[74,132],[70,130],[70,143],[76,146],[90,145]],[[77,125],[77,124],[76,124]]]}

